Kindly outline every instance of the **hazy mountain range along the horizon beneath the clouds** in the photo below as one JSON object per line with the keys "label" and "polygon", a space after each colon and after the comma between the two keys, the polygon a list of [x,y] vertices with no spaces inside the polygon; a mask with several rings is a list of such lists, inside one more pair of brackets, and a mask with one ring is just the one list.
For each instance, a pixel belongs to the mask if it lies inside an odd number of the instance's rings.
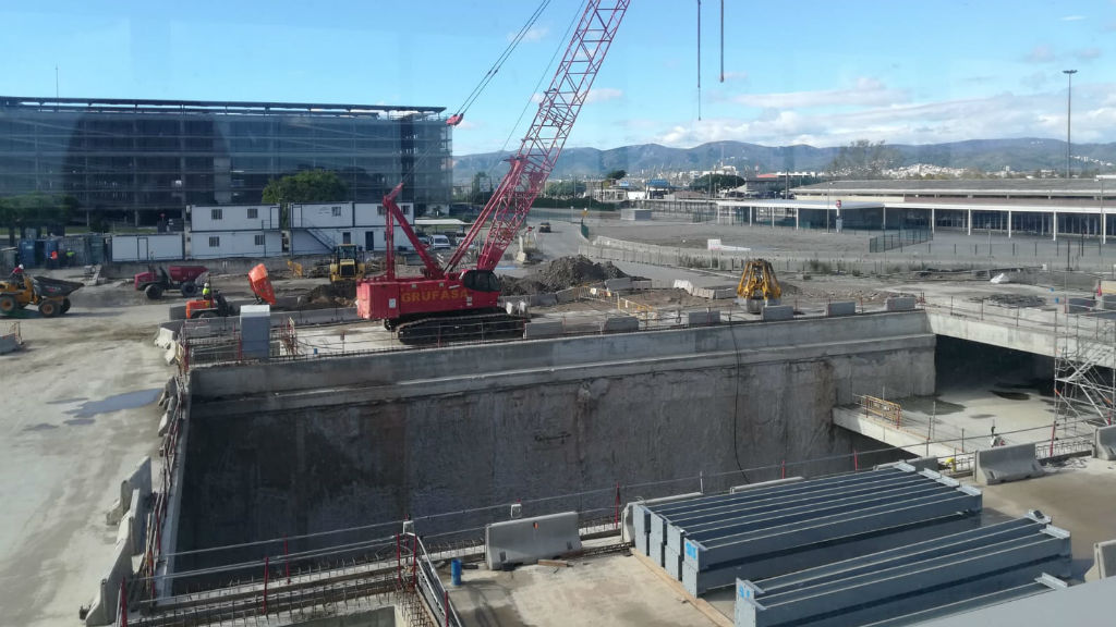
{"label": "hazy mountain range along the horizon beneath the clouds", "polygon": [[[945,144],[887,144],[896,156],[896,166],[927,164],[942,167],[1031,173],[1036,170],[1061,171],[1066,167],[1066,142],[1058,139],[971,139]],[[733,165],[741,175],[770,172],[822,172],[840,147],[816,148],[805,144],[761,146],[743,142],[712,142],[693,148],[670,148],[658,144],[597,148],[566,148],[558,157],[551,179],[599,177],[613,170],[632,176],[652,177],[667,172],[704,171],[720,164]],[[483,153],[454,157],[453,181],[468,183],[478,172],[492,177],[507,171],[503,160],[511,153]],[[1074,144],[1074,170],[1112,172],[1116,143]],[[1107,165],[1106,165],[1107,164]],[[757,170],[758,168],[758,170]]]}

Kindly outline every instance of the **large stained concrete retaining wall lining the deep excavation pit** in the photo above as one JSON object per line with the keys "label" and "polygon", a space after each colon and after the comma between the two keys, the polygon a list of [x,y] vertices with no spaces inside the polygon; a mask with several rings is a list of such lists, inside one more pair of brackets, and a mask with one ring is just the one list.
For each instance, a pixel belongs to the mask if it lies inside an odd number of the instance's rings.
{"label": "large stained concrete retaining wall lining the deep excavation pit", "polygon": [[[934,337],[922,314],[879,314],[218,366],[190,376],[179,550],[519,499],[529,515],[598,507],[562,498],[540,510],[529,500],[695,478],[734,469],[738,455],[773,469],[749,479],[777,479],[782,459],[870,447],[828,417],[835,402],[863,393],[864,380],[896,396],[932,394]],[[796,393],[771,402],[772,389]],[[728,489],[723,481],[706,479],[706,489]],[[501,510],[444,520],[464,529],[503,519]],[[419,532],[439,532],[441,520],[420,521]]]}

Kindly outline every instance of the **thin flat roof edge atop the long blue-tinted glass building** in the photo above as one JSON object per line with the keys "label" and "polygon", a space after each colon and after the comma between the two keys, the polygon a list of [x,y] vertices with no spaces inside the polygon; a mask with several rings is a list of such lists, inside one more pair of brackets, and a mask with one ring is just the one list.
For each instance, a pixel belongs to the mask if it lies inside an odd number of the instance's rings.
{"label": "thin flat roof edge atop the long blue-tinted glass building", "polygon": [[153,100],[132,98],[48,98],[0,96],[0,107],[42,112],[213,114],[213,115],[317,115],[331,117],[427,117],[445,107],[405,105],[356,105],[321,103],[268,103],[232,100]]}

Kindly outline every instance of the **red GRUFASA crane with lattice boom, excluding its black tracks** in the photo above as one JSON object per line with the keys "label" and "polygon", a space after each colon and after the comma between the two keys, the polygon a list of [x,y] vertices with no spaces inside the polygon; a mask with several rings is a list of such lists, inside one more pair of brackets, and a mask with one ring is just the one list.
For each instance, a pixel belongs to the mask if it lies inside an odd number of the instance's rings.
{"label": "red GRUFASA crane with lattice boom, excluding its black tracks", "polygon": [[[629,2],[587,1],[550,87],[542,95],[535,120],[519,152],[509,160],[508,174],[465,238],[458,243],[445,268],[429,254],[395,203],[403,184],[400,183],[384,196],[387,270],[382,276],[358,283],[357,311],[362,317],[383,319],[385,326],[393,328],[422,318],[454,312],[488,314],[497,309],[500,282],[494,273],[496,267],[554,170]],[[421,277],[395,276],[393,238],[396,221],[422,258],[424,268]],[[477,267],[455,270],[490,222]]]}

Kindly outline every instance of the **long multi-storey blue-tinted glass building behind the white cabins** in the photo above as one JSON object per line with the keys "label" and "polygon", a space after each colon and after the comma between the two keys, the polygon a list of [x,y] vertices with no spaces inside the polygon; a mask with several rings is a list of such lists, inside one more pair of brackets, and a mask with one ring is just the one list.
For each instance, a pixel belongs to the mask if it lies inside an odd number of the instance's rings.
{"label": "long multi-storey blue-tinted glass building behind the white cabins", "polygon": [[416,213],[449,204],[443,107],[0,96],[0,196],[71,195],[141,222],[187,204],[254,204],[271,179],[336,172],[378,202],[410,174]]}

